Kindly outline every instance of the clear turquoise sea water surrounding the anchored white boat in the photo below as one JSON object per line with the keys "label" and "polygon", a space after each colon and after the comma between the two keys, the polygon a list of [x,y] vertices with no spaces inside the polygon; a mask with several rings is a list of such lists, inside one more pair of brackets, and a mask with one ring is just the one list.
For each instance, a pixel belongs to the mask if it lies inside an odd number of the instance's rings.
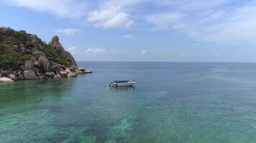
{"label": "clear turquoise sea water surrounding the anchored white boat", "polygon": [[94,73],[0,84],[0,142],[256,142],[256,64],[79,64]]}

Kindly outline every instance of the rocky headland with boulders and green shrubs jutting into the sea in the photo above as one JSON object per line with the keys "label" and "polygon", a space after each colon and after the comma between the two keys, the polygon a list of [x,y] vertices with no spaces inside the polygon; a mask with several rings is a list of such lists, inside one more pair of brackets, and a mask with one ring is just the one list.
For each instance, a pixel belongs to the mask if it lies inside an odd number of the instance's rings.
{"label": "rocky headland with boulders and green shrubs jutting into the sea", "polygon": [[78,68],[58,36],[49,44],[26,31],[0,27],[0,82],[59,79],[91,73]]}

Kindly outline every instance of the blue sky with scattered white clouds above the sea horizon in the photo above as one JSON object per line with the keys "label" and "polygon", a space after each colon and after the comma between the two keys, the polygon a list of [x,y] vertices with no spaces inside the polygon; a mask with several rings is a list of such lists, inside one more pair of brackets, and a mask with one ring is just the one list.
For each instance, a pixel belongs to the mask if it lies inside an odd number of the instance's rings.
{"label": "blue sky with scattered white clouds above the sea horizon", "polygon": [[78,61],[256,61],[256,0],[0,0],[0,26]]}

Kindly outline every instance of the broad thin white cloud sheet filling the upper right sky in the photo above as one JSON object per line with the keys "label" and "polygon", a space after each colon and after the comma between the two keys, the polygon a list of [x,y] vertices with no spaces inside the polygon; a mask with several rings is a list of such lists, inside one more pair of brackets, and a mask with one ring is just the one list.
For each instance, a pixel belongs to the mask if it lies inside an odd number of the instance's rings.
{"label": "broad thin white cloud sheet filling the upper right sky", "polygon": [[234,0],[166,0],[160,4],[172,10],[150,14],[145,20],[155,29],[180,31],[199,41],[255,41],[256,1],[239,6],[230,5],[232,2]]}

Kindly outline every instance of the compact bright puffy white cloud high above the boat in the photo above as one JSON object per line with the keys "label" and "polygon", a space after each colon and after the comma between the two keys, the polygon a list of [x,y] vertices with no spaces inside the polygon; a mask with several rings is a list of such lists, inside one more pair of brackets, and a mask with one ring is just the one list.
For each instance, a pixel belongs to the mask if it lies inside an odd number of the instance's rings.
{"label": "compact bright puffy white cloud high above the boat", "polygon": [[119,11],[118,8],[105,9],[98,11],[97,9],[88,14],[87,20],[95,26],[103,28],[125,28],[131,26],[134,21],[130,19],[129,14]]}

